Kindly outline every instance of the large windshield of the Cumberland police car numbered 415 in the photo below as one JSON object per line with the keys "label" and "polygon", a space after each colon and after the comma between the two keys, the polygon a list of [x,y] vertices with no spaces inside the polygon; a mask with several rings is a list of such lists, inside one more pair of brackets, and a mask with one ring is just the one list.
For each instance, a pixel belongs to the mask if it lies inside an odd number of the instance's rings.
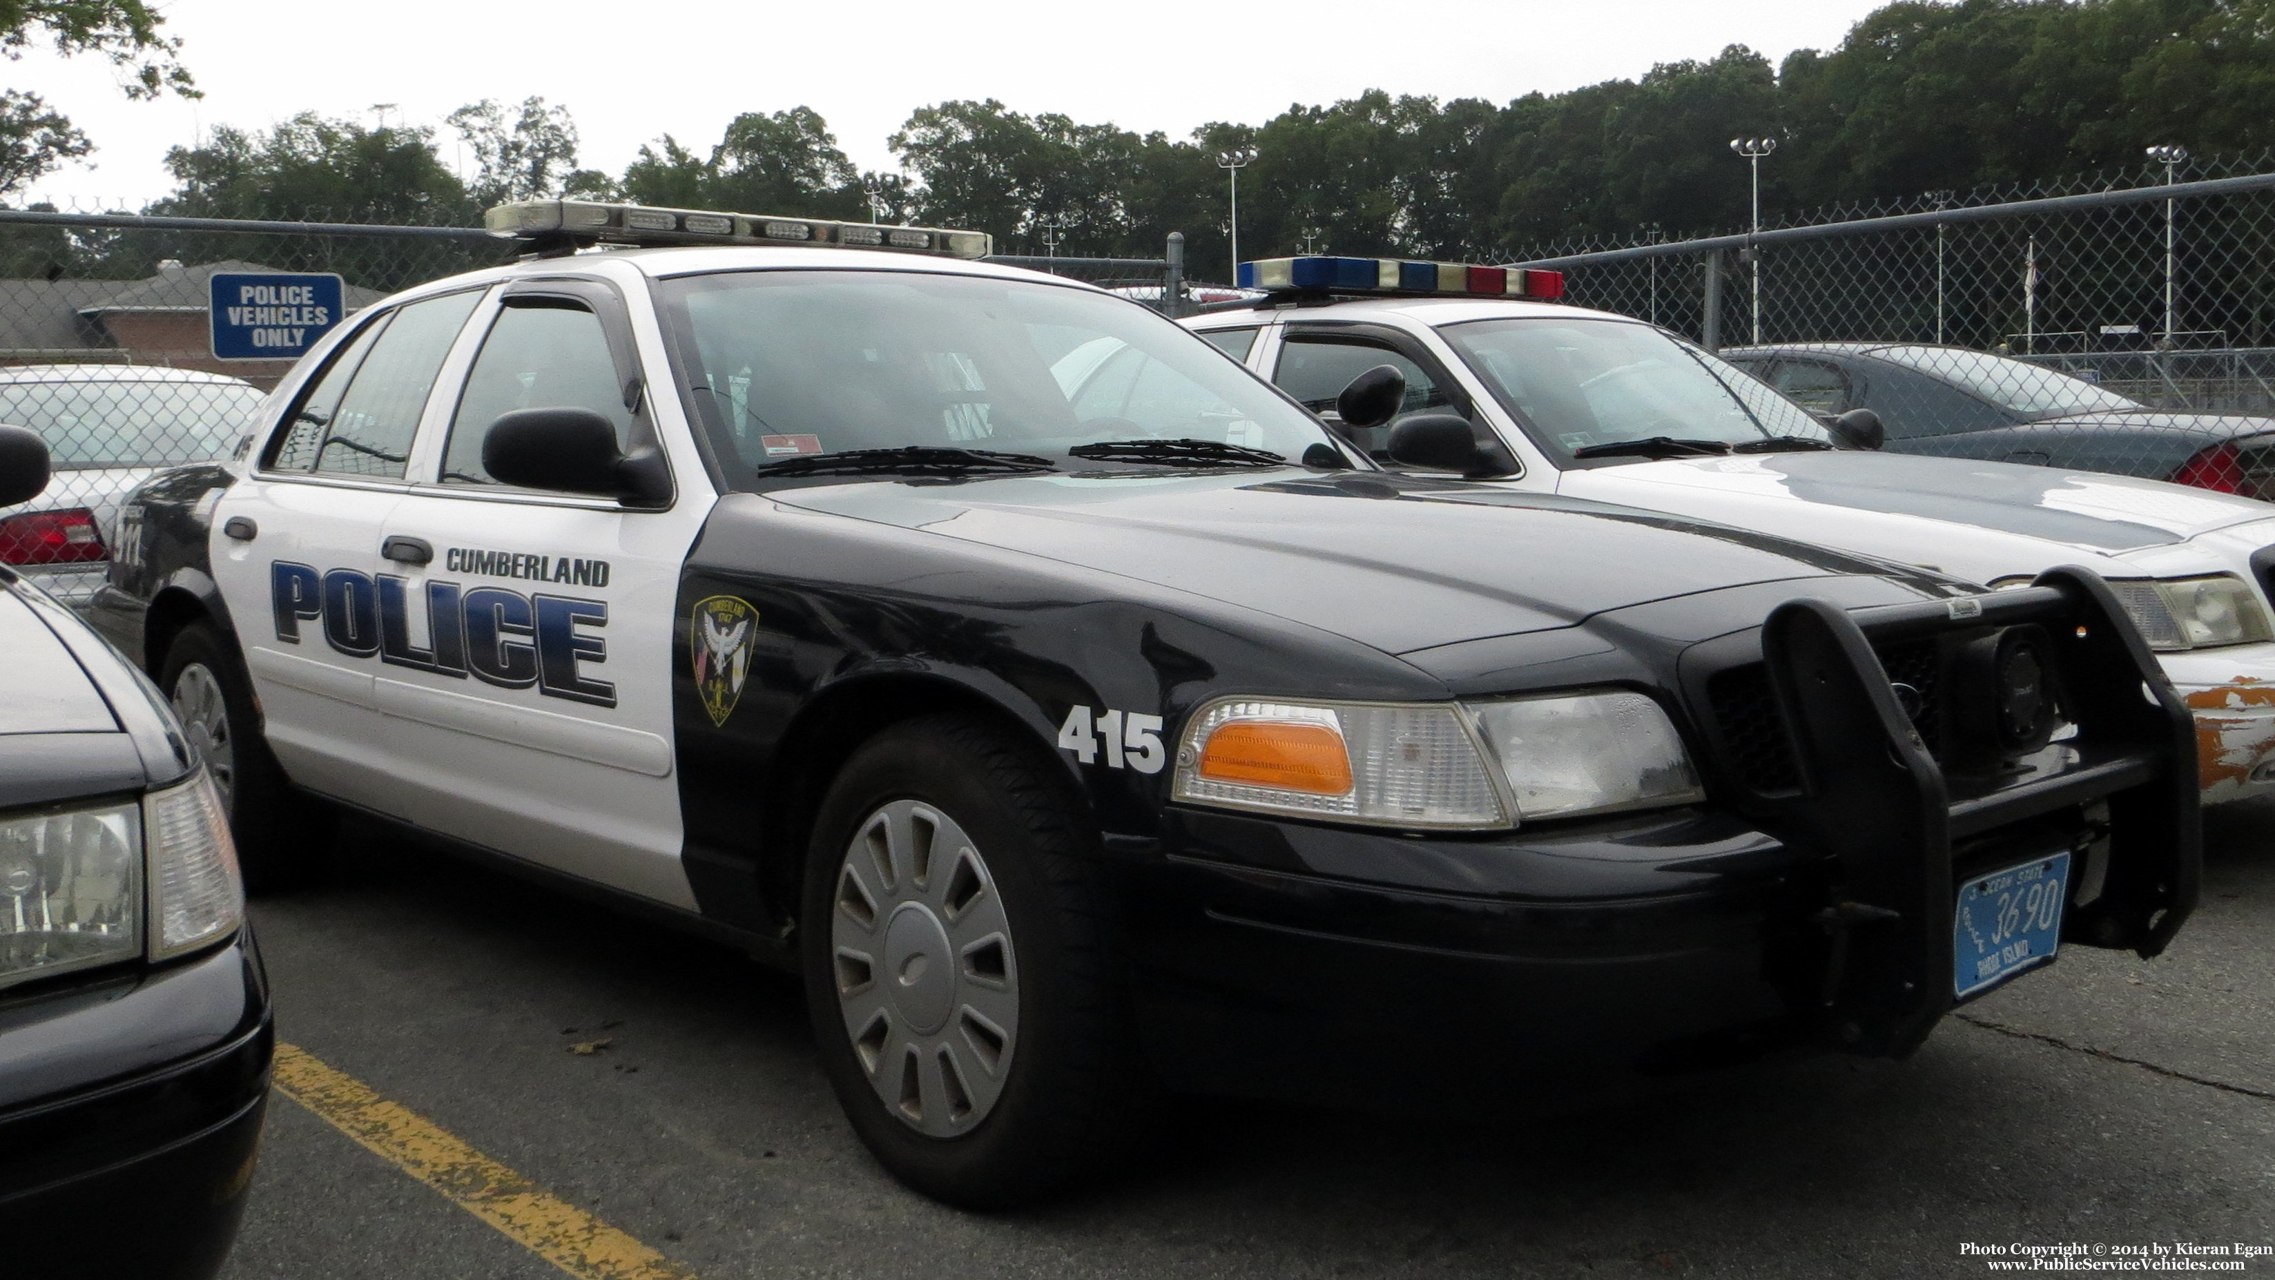
{"label": "large windshield of the Cumberland police car numbered 415", "polygon": [[[728,464],[735,484],[785,459],[910,446],[1092,471],[1188,455],[1272,462],[1238,450],[1297,462],[1329,443],[1315,418],[1199,336],[1083,289],[744,271],[669,280],[664,296],[701,361],[689,382],[717,407],[719,452],[742,464]],[[1108,441],[1206,443],[1101,450]]]}

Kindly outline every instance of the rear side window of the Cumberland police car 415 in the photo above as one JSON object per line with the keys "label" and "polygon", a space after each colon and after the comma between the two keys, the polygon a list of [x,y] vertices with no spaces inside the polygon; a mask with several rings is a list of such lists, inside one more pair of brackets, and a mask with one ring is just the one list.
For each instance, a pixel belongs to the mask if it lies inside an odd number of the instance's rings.
{"label": "rear side window of the Cumberland police car 415", "polygon": [[300,398],[271,466],[400,480],[435,375],[478,300],[450,293],[375,321]]}

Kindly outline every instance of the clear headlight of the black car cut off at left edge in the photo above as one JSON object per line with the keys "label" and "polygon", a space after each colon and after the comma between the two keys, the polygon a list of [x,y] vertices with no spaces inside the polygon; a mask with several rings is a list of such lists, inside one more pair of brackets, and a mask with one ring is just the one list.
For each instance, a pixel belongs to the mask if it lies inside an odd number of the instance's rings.
{"label": "clear headlight of the black car cut off at left edge", "polygon": [[0,818],[0,987],[141,955],[141,807]]}

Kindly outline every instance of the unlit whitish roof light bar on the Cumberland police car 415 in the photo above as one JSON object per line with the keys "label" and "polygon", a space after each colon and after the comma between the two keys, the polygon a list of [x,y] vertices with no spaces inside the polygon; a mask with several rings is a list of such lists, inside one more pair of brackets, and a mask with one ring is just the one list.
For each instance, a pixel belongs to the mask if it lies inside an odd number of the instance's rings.
{"label": "unlit whitish roof light bar on the Cumberland police car 415", "polygon": [[835,246],[987,257],[987,232],[937,227],[880,227],[830,223],[826,218],[769,218],[717,214],[710,209],[657,209],[653,205],[601,205],[594,200],[516,200],[482,214],[494,236],[521,241],[569,241],[614,246]]}

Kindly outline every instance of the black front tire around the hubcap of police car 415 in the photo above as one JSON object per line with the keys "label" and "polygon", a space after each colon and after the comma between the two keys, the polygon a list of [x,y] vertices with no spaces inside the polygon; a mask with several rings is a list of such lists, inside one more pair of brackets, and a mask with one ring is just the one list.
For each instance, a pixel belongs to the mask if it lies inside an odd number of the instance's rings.
{"label": "black front tire around the hubcap of police car 415", "polygon": [[[1012,939],[1008,946],[1017,948],[1012,1053],[990,1109],[969,1132],[953,1137],[919,1132],[917,1121],[894,1114],[880,1096],[887,1084],[855,1050],[849,1021],[860,1014],[853,998],[839,1003],[844,971],[833,916],[853,839],[890,807],[908,812],[908,803],[937,809],[969,834],[969,848],[983,850],[987,889],[999,896]],[[808,853],[801,921],[805,998],[821,1066],[839,1105],[876,1160],[908,1187],[967,1210],[1001,1210],[1062,1194],[1133,1153],[1158,1105],[1158,1089],[1128,1028],[1126,982],[1099,884],[1097,848],[1081,798],[1053,762],[971,716],[924,716],[894,725],[864,743],[833,780]],[[956,889],[949,884],[940,893],[946,898]],[[874,921],[876,912],[869,916]],[[867,928],[885,939],[878,925]],[[949,962],[946,969],[965,975],[965,964]],[[958,1007],[953,1000],[971,996],[969,987],[951,984],[951,1005],[942,1007]],[[890,998],[892,991],[878,996]],[[919,1050],[908,1046],[905,1053],[915,1064]]]}

